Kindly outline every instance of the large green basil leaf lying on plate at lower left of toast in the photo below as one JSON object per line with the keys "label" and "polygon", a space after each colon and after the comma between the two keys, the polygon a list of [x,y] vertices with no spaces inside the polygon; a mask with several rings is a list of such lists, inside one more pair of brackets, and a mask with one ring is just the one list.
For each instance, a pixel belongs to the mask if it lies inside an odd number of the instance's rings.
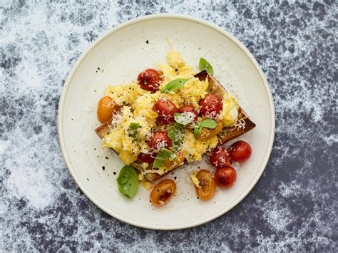
{"label": "large green basil leaf lying on plate at lower left of toast", "polygon": [[123,166],[118,174],[118,190],[129,197],[133,198],[138,191],[138,173],[130,165]]}

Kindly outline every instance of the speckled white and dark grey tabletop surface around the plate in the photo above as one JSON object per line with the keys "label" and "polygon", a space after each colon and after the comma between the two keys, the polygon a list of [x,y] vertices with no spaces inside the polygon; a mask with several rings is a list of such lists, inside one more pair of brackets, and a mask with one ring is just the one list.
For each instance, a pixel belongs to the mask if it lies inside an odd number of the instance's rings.
{"label": "speckled white and dark grey tabletop surface around the plate", "polygon": [[[337,2],[1,1],[0,250],[338,251]],[[189,14],[230,31],[272,88],[275,145],[261,179],[226,215],[159,232],[123,224],[78,190],[56,109],[81,52],[137,16]]]}

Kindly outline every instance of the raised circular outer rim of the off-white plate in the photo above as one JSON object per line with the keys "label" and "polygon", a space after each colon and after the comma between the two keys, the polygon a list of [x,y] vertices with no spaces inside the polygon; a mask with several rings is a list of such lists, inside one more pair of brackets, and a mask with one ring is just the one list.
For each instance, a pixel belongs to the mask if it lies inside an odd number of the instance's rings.
{"label": "raised circular outer rim of the off-white plate", "polygon": [[[189,224],[183,223],[183,224],[173,225],[173,226],[171,226],[171,225],[164,225],[163,226],[163,225],[148,224],[146,222],[135,221],[132,218],[130,219],[128,217],[124,217],[122,215],[119,215],[116,212],[113,212],[112,210],[109,210],[106,207],[106,205],[104,205],[99,200],[97,200],[96,197],[93,197],[91,192],[86,190],[86,187],[76,177],[75,169],[73,168],[71,161],[68,159],[68,153],[67,153],[67,150],[66,150],[65,140],[63,139],[63,128],[62,128],[62,123],[63,123],[62,117],[63,117],[63,108],[64,108],[63,105],[65,103],[66,94],[68,92],[68,88],[69,88],[71,81],[73,79],[74,73],[76,73],[78,66],[80,66],[83,59],[86,58],[88,53],[90,53],[91,50],[93,50],[93,48],[95,48],[98,45],[98,43],[101,43],[101,41],[106,39],[108,36],[111,36],[111,34],[116,33],[116,31],[124,29],[127,26],[131,26],[133,24],[137,24],[137,23],[140,23],[140,22],[143,22],[143,21],[150,21],[150,20],[153,20],[153,19],[179,19],[179,20],[184,20],[184,21],[190,21],[190,22],[194,22],[194,23],[197,23],[197,24],[202,24],[204,26],[207,26],[208,28],[213,29],[213,30],[217,31],[218,33],[221,33],[223,36],[226,36],[227,38],[229,38],[230,41],[235,43],[245,53],[245,55],[248,56],[248,58],[250,58],[250,61],[253,63],[253,65],[257,69],[258,73],[260,74],[260,78],[262,78],[262,82],[264,83],[264,87],[265,87],[265,92],[267,93],[267,98],[269,100],[270,114],[272,115],[271,122],[270,122],[272,128],[271,128],[270,133],[269,133],[270,141],[269,141],[268,146],[267,146],[267,152],[265,153],[265,157],[264,157],[263,162],[262,162],[262,167],[257,172],[257,174],[256,174],[254,180],[252,180],[251,184],[247,187],[247,189],[244,192],[242,192],[242,194],[240,195],[240,197],[237,198],[237,200],[235,200],[231,203],[232,205],[230,205],[230,207],[228,207],[224,210],[221,210],[220,212],[216,212],[213,215],[209,215],[208,217],[205,217],[204,219],[198,220],[196,222],[190,222]],[[78,185],[80,190],[86,195],[86,197],[88,197],[89,200],[91,200],[91,202],[93,202],[94,205],[99,207],[101,210],[103,210],[103,212],[106,212],[108,215],[111,215],[112,217],[114,217],[118,220],[121,220],[122,222],[126,222],[128,224],[132,224],[133,226],[142,227],[142,228],[146,228],[146,229],[175,230],[175,229],[185,229],[185,228],[190,228],[190,227],[196,227],[196,226],[199,226],[201,224],[205,224],[206,222],[210,222],[212,220],[215,220],[217,217],[220,217],[221,215],[224,215],[226,212],[229,212],[230,210],[232,210],[233,207],[235,207],[238,203],[240,203],[242,200],[244,200],[244,198],[249,194],[249,192],[251,192],[252,188],[255,187],[257,181],[262,176],[262,173],[264,172],[265,167],[267,166],[267,162],[270,158],[270,155],[271,155],[271,152],[272,152],[272,146],[273,146],[274,139],[275,139],[275,118],[276,118],[276,116],[275,116],[275,105],[274,105],[274,102],[273,102],[272,93],[271,93],[271,90],[270,90],[269,83],[267,82],[267,78],[265,77],[265,74],[263,73],[260,65],[257,63],[255,57],[231,33],[225,31],[224,29],[221,29],[220,27],[216,26],[215,24],[211,24],[208,21],[205,21],[203,19],[198,19],[198,18],[195,18],[193,16],[188,16],[188,15],[152,14],[152,15],[148,15],[148,16],[140,16],[138,18],[126,21],[122,24],[118,24],[115,27],[113,27],[113,29],[110,29],[110,30],[104,32],[101,36],[96,38],[96,40],[93,41],[93,43],[91,43],[86,48],[86,50],[83,51],[83,53],[81,53],[81,56],[77,59],[75,65],[73,66],[73,68],[71,68],[71,71],[68,73],[66,81],[63,84],[62,92],[61,92],[60,99],[59,99],[59,102],[58,102],[58,112],[57,112],[57,114],[58,114],[57,115],[58,143],[59,143],[60,148],[61,148],[63,159],[66,161],[68,171],[71,173],[73,180],[76,182],[76,184]]]}

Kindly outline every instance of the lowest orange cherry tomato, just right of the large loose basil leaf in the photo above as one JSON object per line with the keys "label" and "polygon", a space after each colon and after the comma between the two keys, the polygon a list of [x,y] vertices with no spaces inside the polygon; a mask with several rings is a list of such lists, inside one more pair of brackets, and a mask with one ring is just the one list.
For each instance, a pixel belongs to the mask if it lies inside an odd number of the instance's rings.
{"label": "lowest orange cherry tomato, just right of the large loose basil leaf", "polygon": [[166,179],[159,182],[150,192],[150,202],[153,205],[163,205],[170,200],[176,192],[176,183]]}

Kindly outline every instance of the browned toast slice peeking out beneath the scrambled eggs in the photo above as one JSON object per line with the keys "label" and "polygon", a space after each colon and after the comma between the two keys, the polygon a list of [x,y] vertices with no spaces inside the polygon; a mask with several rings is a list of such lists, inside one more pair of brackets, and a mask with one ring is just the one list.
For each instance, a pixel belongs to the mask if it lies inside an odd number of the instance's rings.
{"label": "browned toast slice peeking out beneath the scrambled eggs", "polygon": [[[225,88],[213,77],[210,76],[207,71],[201,71],[200,73],[195,74],[196,78],[199,78],[200,81],[204,81],[206,78],[208,78],[209,82],[209,88],[208,93],[214,93],[219,96],[223,96],[227,91],[225,91]],[[239,107],[238,109],[238,118],[237,118],[237,126],[235,127],[225,127],[223,130],[218,133],[218,143],[222,145],[223,143],[227,143],[229,140],[232,140],[240,135],[243,135],[247,133],[248,131],[252,130],[252,128],[255,128],[255,123],[250,120],[249,116],[245,113],[245,111]],[[109,133],[109,126],[108,122],[103,123],[95,130],[96,134],[102,139]],[[115,150],[114,152],[118,154]],[[134,167],[135,170],[138,172],[142,172],[143,165],[141,162],[135,161],[130,166]],[[150,165],[151,166],[151,165]],[[182,165],[181,165],[182,166]],[[180,167],[180,166],[178,166]],[[164,173],[163,175],[159,175],[157,173],[146,173],[144,175],[145,180],[148,182],[155,182],[156,180],[159,180],[161,177],[164,177],[170,172],[173,172],[177,167],[174,167],[172,170],[169,170],[168,172]]]}

